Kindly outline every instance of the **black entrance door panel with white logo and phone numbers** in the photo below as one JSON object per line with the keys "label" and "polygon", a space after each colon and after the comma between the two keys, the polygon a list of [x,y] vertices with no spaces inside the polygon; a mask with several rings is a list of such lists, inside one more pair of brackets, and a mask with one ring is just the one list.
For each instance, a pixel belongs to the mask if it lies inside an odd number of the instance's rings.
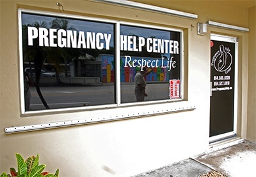
{"label": "black entrance door panel with white logo and phone numbers", "polygon": [[236,43],[211,38],[210,137],[234,132]]}

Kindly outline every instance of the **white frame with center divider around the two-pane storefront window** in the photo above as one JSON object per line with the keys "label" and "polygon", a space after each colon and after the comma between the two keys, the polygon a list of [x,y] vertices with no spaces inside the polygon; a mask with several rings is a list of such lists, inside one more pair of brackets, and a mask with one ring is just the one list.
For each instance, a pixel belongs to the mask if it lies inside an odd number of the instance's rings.
{"label": "white frame with center divider around the two-pane storefront window", "polygon": [[[23,81],[23,53],[22,53],[22,13],[31,13],[36,15],[50,15],[52,17],[64,17],[64,18],[75,18],[79,20],[91,20],[93,22],[106,22],[114,25],[114,34],[115,34],[115,104],[105,104],[97,106],[87,106],[87,107],[76,107],[76,108],[58,108],[52,110],[36,110],[36,111],[25,111],[24,103],[24,81]],[[26,115],[35,115],[35,114],[46,114],[46,113],[60,113],[60,112],[70,112],[70,111],[90,111],[90,110],[102,110],[111,109],[111,108],[122,108],[130,106],[143,106],[151,104],[160,104],[160,103],[172,103],[173,101],[184,101],[184,31],[182,29],[174,29],[171,27],[163,27],[158,25],[148,25],[148,24],[139,24],[134,22],[125,22],[119,20],[109,20],[105,18],[94,18],[94,17],[85,17],[79,15],[70,15],[63,13],[54,13],[51,11],[38,11],[38,10],[27,10],[19,8],[19,87],[20,87],[20,112],[22,116]],[[121,103],[121,81],[120,81],[120,25],[132,25],[134,27],[146,27],[149,29],[159,29],[165,31],[176,31],[180,32],[180,98],[179,99],[164,99],[159,101],[145,101],[145,102],[136,102],[136,103]]]}

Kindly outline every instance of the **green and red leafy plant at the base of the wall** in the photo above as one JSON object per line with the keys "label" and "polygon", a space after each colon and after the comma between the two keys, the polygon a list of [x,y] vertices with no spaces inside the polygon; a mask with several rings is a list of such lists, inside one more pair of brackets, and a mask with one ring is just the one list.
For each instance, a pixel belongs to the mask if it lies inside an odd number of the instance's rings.
{"label": "green and red leafy plant at the base of the wall", "polygon": [[0,177],[58,177],[59,169],[56,170],[55,174],[50,174],[48,172],[42,172],[45,169],[45,165],[39,165],[39,155],[28,157],[24,161],[19,153],[15,153],[18,165],[18,171],[14,168],[10,168],[10,174],[5,172],[1,174]]}

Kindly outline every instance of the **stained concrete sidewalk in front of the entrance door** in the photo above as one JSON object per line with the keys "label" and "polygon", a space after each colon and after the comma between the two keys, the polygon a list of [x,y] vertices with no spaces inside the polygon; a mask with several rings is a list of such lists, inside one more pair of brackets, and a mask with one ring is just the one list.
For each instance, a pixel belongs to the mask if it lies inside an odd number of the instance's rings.
{"label": "stained concrete sidewalk in front of the entrance door", "polygon": [[199,177],[212,170],[228,177],[256,176],[256,144],[238,139],[209,151],[134,177]]}

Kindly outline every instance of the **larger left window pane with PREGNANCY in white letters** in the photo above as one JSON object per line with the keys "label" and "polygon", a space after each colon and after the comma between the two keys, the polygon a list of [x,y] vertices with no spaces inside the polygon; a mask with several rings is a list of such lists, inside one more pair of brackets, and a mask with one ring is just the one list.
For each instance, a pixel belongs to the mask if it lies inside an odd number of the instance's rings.
{"label": "larger left window pane with PREGNANCY in white letters", "polygon": [[26,111],[115,103],[114,29],[22,13]]}

